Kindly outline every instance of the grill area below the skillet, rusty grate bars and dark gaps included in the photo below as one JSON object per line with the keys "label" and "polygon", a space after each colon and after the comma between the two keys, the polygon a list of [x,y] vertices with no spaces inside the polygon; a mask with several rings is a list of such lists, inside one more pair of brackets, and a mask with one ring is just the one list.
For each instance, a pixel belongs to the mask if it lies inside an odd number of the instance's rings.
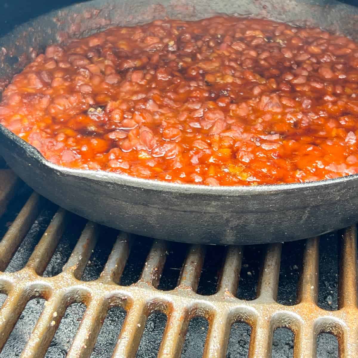
{"label": "grill area below the skillet, rusty grate bars and dark gaps included", "polygon": [[357,357],[355,227],[267,246],[157,241],[2,168],[0,358]]}

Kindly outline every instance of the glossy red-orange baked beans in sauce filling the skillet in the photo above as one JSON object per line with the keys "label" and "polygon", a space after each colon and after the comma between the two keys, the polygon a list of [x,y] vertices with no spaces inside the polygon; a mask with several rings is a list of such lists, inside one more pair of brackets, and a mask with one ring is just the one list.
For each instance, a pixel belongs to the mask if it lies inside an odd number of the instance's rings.
{"label": "glossy red-orange baked beans in sauce filling the skillet", "polygon": [[358,173],[358,47],[320,29],[214,17],[51,45],[0,122],[49,161],[140,178],[257,185]]}

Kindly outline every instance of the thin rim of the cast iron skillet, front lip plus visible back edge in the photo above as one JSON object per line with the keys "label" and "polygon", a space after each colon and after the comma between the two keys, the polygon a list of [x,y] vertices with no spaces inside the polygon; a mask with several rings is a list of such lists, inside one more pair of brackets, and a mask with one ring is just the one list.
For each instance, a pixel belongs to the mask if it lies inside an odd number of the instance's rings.
{"label": "thin rim of the cast iron skillet, front lip plus visible back edge", "polygon": [[[94,3],[97,3],[98,0],[90,0],[90,1],[81,1],[80,3],[76,4],[75,6],[79,6],[81,8],[83,5],[87,7],[87,5],[91,6]],[[111,2],[110,0],[105,0],[105,3]],[[295,0],[297,2],[297,0]],[[310,3],[310,1],[305,0],[303,4]],[[357,6],[351,4],[345,4],[337,0],[331,0],[330,6],[333,7],[335,5],[338,8],[348,8],[348,9],[357,9]],[[29,24],[31,25],[33,21],[40,21],[47,19],[52,14],[57,14],[58,10],[64,9],[72,9],[74,4],[61,7],[61,9],[52,10],[45,14],[36,16],[34,19],[30,19],[25,23],[19,25],[14,30],[11,30],[9,33],[0,36],[0,39],[8,38],[15,36],[21,29],[28,28]],[[337,8],[336,8],[337,10]],[[284,19],[273,19],[274,21],[279,22],[289,22]],[[295,21],[297,19],[294,19]],[[345,35],[347,36],[347,35]],[[348,36],[349,37],[349,36]],[[358,40],[357,40],[358,42]],[[43,165],[45,168],[54,171],[57,175],[68,175],[68,176],[77,176],[78,178],[86,178],[89,180],[96,180],[100,182],[107,182],[117,185],[127,185],[130,187],[142,188],[142,189],[150,189],[155,191],[163,191],[163,192],[172,192],[176,194],[200,194],[200,195],[226,195],[228,197],[237,197],[237,196],[245,196],[245,195],[265,195],[265,194],[272,194],[272,193],[284,193],[284,192],[295,192],[297,190],[304,191],[305,189],[313,189],[319,187],[336,187],[342,185],[344,183],[348,183],[351,181],[355,181],[358,179],[358,174],[351,174],[342,176],[339,178],[334,179],[324,179],[324,180],[317,180],[314,182],[304,182],[304,183],[287,183],[287,184],[261,184],[261,185],[237,185],[237,186],[216,186],[211,187],[208,185],[202,184],[179,184],[179,183],[169,183],[159,180],[153,179],[142,179],[142,178],[135,178],[134,176],[126,175],[126,174],[117,174],[117,173],[110,173],[103,170],[95,171],[95,170],[84,170],[84,169],[72,169],[67,168],[65,166],[54,164],[47,159],[32,145],[28,142],[23,140],[18,135],[14,134],[10,130],[8,130],[5,126],[0,124],[0,133],[3,134],[6,139],[12,142],[14,145],[21,147],[25,151],[25,153],[36,160],[38,164]],[[2,144],[0,143],[0,147]],[[1,153],[0,153],[1,154]]]}

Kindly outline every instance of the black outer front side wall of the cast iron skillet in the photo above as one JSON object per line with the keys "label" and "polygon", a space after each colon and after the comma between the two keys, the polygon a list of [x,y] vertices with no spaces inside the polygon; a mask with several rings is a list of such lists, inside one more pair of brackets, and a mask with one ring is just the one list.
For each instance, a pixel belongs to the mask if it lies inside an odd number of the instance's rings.
{"label": "black outer front side wall of the cast iron skillet", "polygon": [[[167,240],[252,244],[315,236],[358,221],[357,178],[288,190],[228,189],[218,194],[141,188],[95,173],[72,175],[44,165],[9,141],[0,128],[1,153],[44,197],[89,220]],[[106,176],[106,173],[104,173]]]}

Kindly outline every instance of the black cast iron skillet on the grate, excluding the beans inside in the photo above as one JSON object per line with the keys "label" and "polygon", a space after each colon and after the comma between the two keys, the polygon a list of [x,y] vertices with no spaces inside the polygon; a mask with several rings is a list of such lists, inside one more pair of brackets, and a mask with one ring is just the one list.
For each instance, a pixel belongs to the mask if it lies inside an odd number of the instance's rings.
{"label": "black cast iron skillet on the grate, excluding the beans inside", "polygon": [[[63,39],[66,32],[83,36],[118,24],[165,16],[193,20],[217,13],[321,26],[358,39],[358,8],[334,0],[95,0],[41,16],[0,39],[6,49],[0,52],[0,75],[12,76],[31,55]],[[18,57],[24,52],[27,58]],[[256,187],[155,182],[54,165],[3,126],[0,154],[26,183],[69,211],[160,239],[209,244],[289,241],[358,221],[357,175]]]}

